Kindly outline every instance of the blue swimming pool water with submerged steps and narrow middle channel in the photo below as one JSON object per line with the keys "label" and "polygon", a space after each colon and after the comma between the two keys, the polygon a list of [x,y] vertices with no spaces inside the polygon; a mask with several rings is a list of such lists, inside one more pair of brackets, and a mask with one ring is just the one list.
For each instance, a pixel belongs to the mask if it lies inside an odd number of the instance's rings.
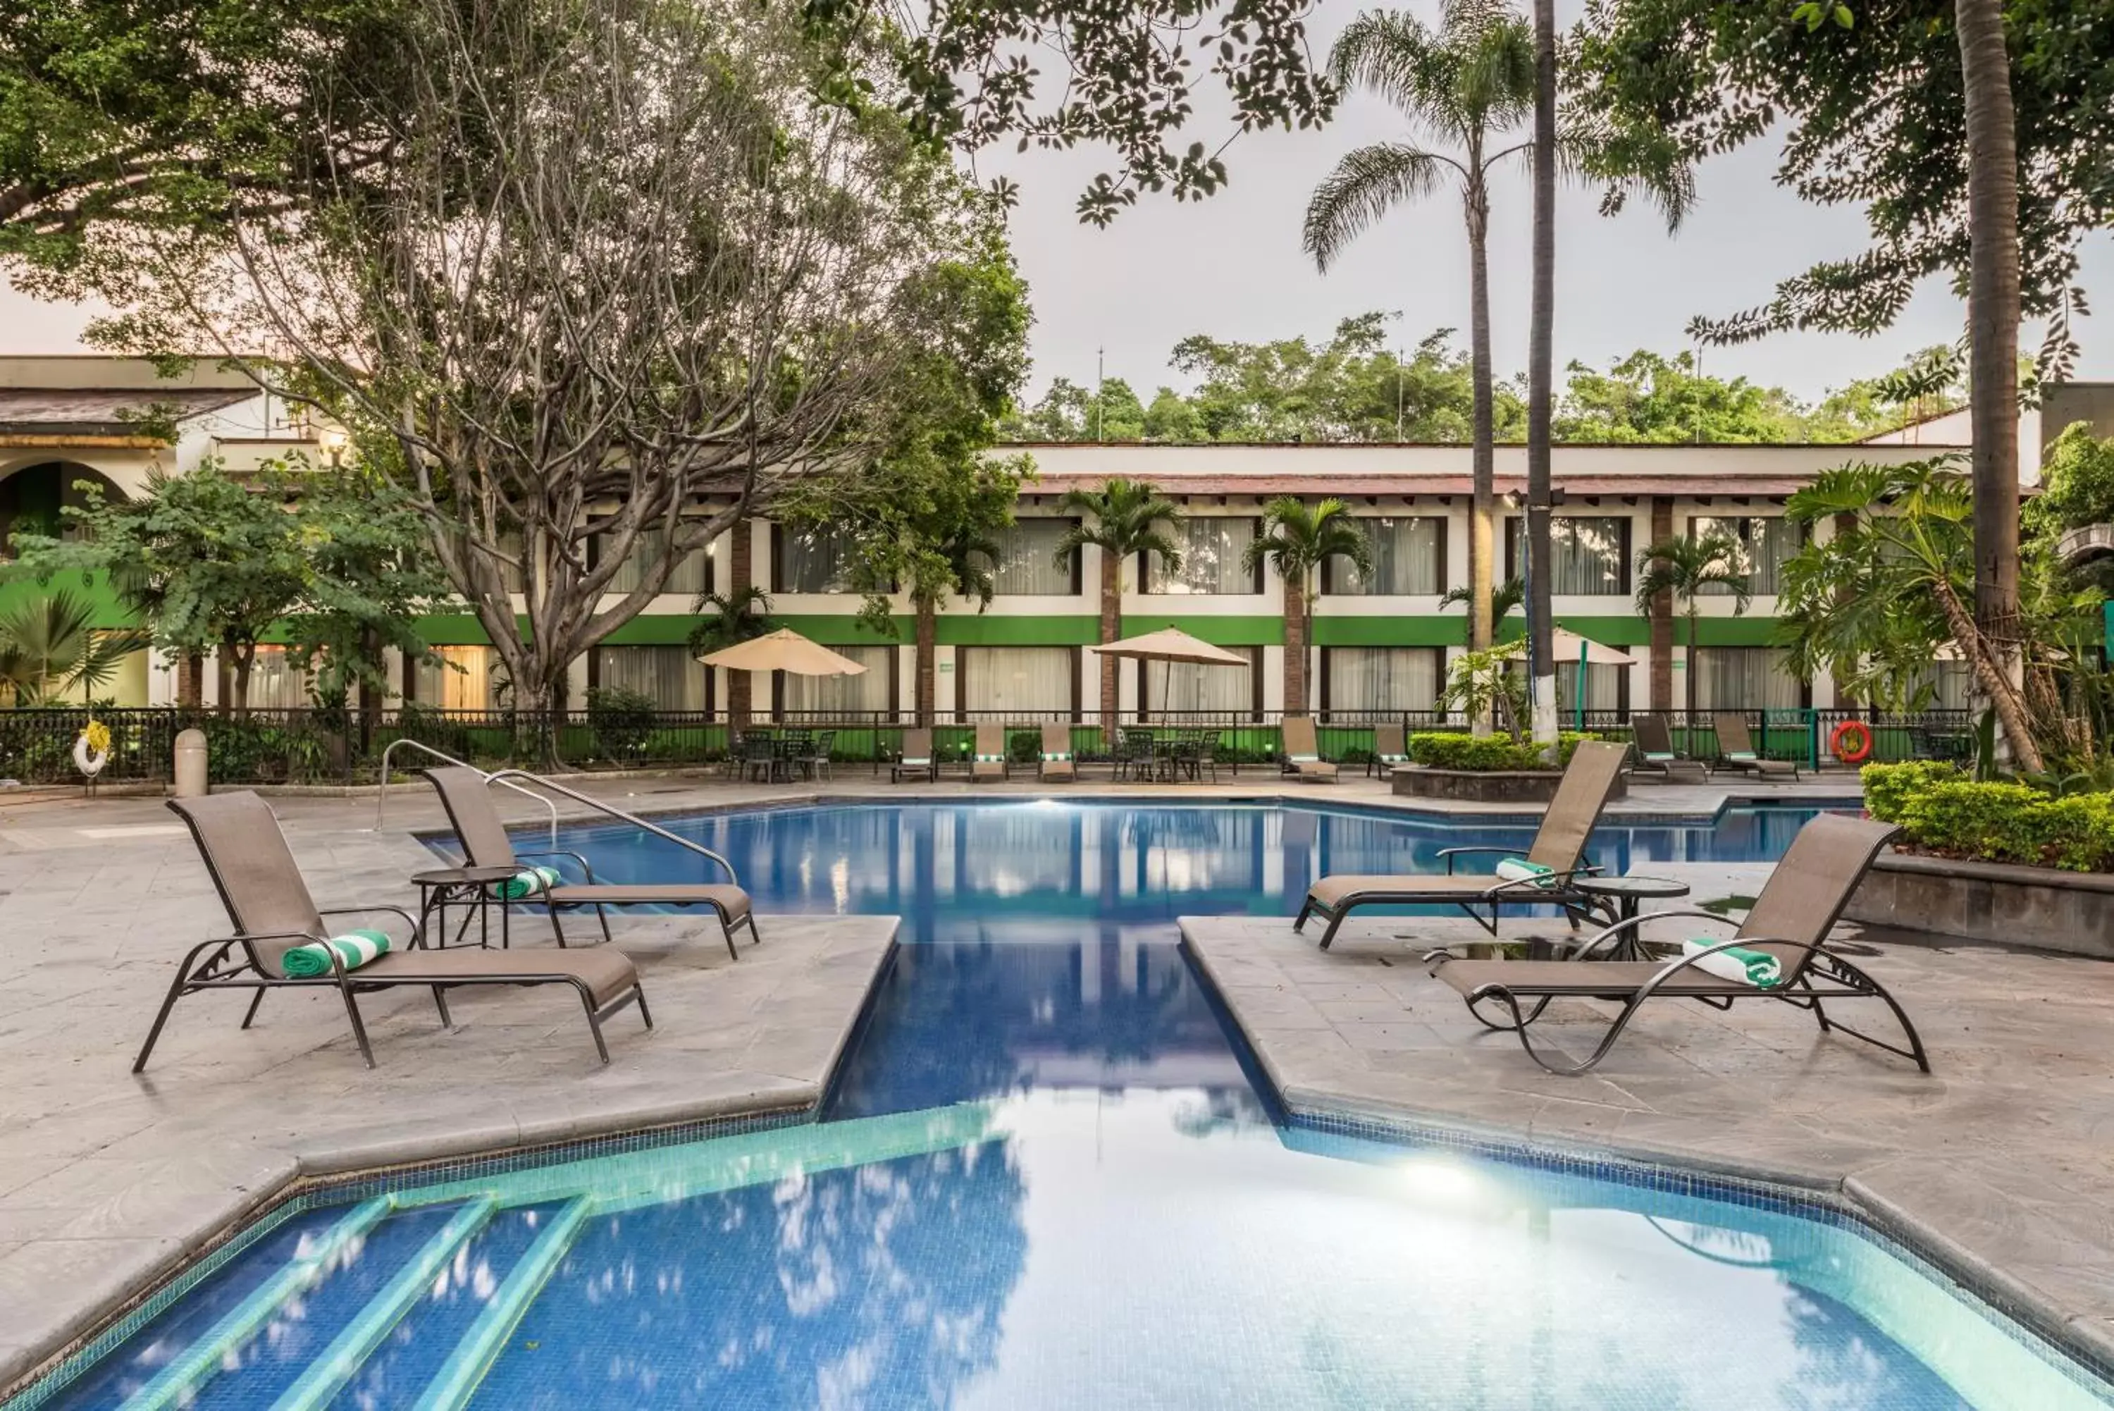
{"label": "blue swimming pool water with submerged steps and narrow middle channel", "polygon": [[[1799,821],[1594,853],[1769,859]],[[302,1210],[49,1405],[2114,1405],[1784,1202],[1277,1121],[1171,918],[1290,914],[1319,872],[1522,829],[1010,802],[676,827],[765,916],[905,918],[822,1121]],[[607,880],[696,874],[636,833],[560,842]],[[288,1269],[302,1286],[264,1299]]]}

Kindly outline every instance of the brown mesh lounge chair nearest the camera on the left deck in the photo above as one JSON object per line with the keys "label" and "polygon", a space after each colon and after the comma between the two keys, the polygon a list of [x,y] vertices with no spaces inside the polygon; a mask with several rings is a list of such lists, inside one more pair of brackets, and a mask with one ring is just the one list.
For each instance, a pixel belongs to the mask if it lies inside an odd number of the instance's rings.
{"label": "brown mesh lounge chair nearest the camera on the left deck", "polygon": [[[647,1028],[653,1028],[645,990],[638,988],[638,971],[632,969],[630,956],[619,950],[543,952],[535,958],[469,946],[425,950],[419,922],[402,908],[319,910],[309,895],[309,884],[300,878],[292,848],[285,846],[279,819],[256,793],[169,800],[169,808],[190,825],[199,857],[205,859],[205,872],[214,878],[214,891],[228,908],[235,935],[192,946],[190,954],[184,956],[175,979],[169,982],[169,996],[161,1001],[161,1011],[154,1015],[154,1028],[146,1032],[140,1058],[133,1060],[133,1073],[146,1068],[175,1001],[205,990],[254,990],[249,1009],[243,1013],[243,1028],[249,1028],[249,1022],[258,1018],[264,990],[336,990],[345,998],[345,1018],[353,1022],[353,1041],[359,1043],[359,1056],[368,1060],[368,1068],[374,1066],[374,1049],[368,1047],[368,1026],[359,1022],[359,1003],[355,1001],[366,990],[429,988],[442,1026],[452,1028],[448,990],[455,986],[573,986],[588,1011],[594,1049],[605,1064],[609,1062],[609,1045],[602,1043],[602,1020],[636,1003],[638,1018],[645,1020]],[[391,950],[353,971],[342,969],[332,956],[330,975],[290,977],[285,973],[285,952],[309,941],[330,939],[332,929],[323,922],[326,916],[372,916],[376,912],[400,916],[410,927],[410,950]]]}

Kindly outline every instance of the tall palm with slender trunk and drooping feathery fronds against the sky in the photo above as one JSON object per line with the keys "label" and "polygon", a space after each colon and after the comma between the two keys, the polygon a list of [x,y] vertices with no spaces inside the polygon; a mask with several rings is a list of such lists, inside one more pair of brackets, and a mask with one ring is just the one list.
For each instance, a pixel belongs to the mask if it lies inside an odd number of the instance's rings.
{"label": "tall palm with slender trunk and drooping feathery fronds against the sky", "polygon": [[1473,512],[1469,516],[1471,649],[1490,645],[1495,550],[1495,391],[1490,372],[1490,171],[1526,150],[1492,144],[1535,106],[1535,49],[1526,23],[1503,0],[1446,0],[1433,34],[1416,17],[1359,15],[1330,51],[1330,74],[1345,87],[1374,89],[1410,118],[1412,135],[1433,135],[1454,152],[1416,142],[1361,146],[1315,188],[1306,203],[1306,254],[1319,269],[1391,205],[1454,186],[1467,218],[1469,360],[1473,377]]}

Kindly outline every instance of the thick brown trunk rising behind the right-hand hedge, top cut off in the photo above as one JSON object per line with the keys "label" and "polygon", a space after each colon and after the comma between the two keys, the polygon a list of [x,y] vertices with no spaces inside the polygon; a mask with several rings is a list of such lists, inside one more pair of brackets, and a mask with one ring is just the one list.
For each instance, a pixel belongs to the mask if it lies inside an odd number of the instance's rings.
{"label": "thick brown trunk rising behind the right-hand hedge, top cut off", "polygon": [[[1974,624],[2004,679],[2019,681],[2019,144],[2000,2],[1955,0],[1953,21],[1968,138]],[[2004,734],[2023,753],[2008,717]]]}

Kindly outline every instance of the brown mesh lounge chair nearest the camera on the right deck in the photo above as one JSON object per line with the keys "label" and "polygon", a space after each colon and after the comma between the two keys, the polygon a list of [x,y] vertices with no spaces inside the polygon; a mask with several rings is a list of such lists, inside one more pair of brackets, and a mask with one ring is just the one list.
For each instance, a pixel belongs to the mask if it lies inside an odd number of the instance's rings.
{"label": "brown mesh lounge chair nearest the camera on the right deck", "polygon": [[[1729,941],[1719,941],[1702,954],[1672,956],[1666,960],[1457,960],[1444,950],[1425,956],[1431,973],[1450,984],[1467,1001],[1469,1011],[1497,1030],[1520,1034],[1520,1045],[1528,1058],[1558,1075],[1586,1073],[1615,1047],[1630,1018],[1649,998],[1693,998],[1712,1009],[1731,1009],[1736,1001],[1769,998],[1812,1009],[1820,1022],[1820,1032],[1843,1032],[1862,1039],[1873,1047],[1913,1058],[1915,1066],[1930,1073],[1930,1058],[1917,1037],[1909,1015],[1886,988],[1850,965],[1839,952],[1826,948],[1829,931],[1843,905],[1865,880],[1871,859],[1879,855],[1898,829],[1892,823],[1873,819],[1852,819],[1848,814],[1824,812],[1799,829],[1784,861],[1769,874],[1769,882],[1755,897],[1755,910],[1746,914]],[[1624,933],[1647,920],[1683,916],[1693,920],[1717,920],[1714,912],[1645,912],[1630,920],[1619,920],[1579,948],[1579,956],[1596,950],[1613,950],[1624,941]],[[1698,969],[1698,960],[1731,946],[1759,950],[1776,956],[1782,979],[1769,988],[1721,979]],[[1600,1039],[1600,1047],[1583,1062],[1550,1062],[1535,1051],[1528,1026],[1541,1018],[1550,1001],[1558,998],[1605,998],[1621,1005],[1615,1024]],[[1894,1011],[1909,1047],[1873,1039],[1829,1015],[1822,1001],[1831,998],[1877,998]],[[1503,1005],[1505,1020],[1490,1020],[1478,1009],[1486,1001]]]}

